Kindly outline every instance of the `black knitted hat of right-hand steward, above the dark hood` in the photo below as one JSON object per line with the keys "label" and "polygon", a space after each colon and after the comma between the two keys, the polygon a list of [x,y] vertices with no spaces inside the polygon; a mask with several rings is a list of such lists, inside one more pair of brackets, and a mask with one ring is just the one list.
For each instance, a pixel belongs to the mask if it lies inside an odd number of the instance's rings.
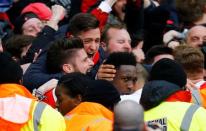
{"label": "black knitted hat of right-hand steward, above the dark hood", "polygon": [[176,61],[164,58],[154,64],[150,72],[151,80],[165,80],[180,87],[186,85],[187,76],[184,69]]}

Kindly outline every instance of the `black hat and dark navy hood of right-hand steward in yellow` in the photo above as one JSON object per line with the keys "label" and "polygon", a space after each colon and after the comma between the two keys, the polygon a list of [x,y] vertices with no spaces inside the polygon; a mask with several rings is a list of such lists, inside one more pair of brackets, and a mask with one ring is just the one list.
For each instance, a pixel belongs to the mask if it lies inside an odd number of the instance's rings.
{"label": "black hat and dark navy hood of right-hand steward in yellow", "polygon": [[143,87],[140,103],[145,110],[158,106],[171,95],[183,91],[186,81],[181,65],[168,58],[161,59],[152,67],[150,81]]}

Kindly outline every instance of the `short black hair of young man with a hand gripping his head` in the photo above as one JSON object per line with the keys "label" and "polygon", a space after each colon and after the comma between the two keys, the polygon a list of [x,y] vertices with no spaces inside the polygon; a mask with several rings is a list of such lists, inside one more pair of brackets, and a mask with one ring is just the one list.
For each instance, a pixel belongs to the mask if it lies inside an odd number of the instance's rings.
{"label": "short black hair of young man with a hand gripping his head", "polygon": [[114,65],[116,69],[119,69],[121,65],[133,65],[136,66],[137,61],[133,53],[129,52],[114,52],[109,55],[104,64]]}

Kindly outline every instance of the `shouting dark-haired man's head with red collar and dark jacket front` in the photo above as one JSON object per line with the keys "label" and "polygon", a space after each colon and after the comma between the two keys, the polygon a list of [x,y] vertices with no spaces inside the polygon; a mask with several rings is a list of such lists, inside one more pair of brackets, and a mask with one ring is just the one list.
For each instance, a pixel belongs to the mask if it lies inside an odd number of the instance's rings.
{"label": "shouting dark-haired man's head with red collar and dark jacket front", "polygon": [[68,28],[69,37],[79,37],[83,40],[84,50],[94,62],[94,66],[88,75],[95,78],[100,64],[105,59],[104,50],[100,47],[99,21],[89,13],[75,15]]}

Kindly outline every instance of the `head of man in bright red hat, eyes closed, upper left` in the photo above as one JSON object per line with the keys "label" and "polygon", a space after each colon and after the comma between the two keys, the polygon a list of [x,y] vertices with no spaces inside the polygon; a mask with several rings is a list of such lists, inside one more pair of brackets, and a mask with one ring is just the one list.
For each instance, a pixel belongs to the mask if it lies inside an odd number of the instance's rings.
{"label": "head of man in bright red hat, eyes closed, upper left", "polygon": [[[53,7],[54,8],[54,7]],[[53,11],[43,3],[32,3],[26,6],[16,19],[15,33],[36,37],[42,31],[44,21],[53,20]]]}

